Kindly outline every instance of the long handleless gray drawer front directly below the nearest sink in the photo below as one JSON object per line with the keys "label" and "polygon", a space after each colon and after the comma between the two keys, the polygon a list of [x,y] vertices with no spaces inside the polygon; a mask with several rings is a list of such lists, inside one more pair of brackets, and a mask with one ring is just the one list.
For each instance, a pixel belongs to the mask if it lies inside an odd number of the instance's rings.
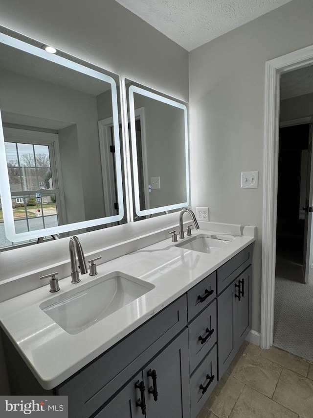
{"label": "long handleless gray drawer front directly below the nearest sink", "polygon": [[68,395],[70,417],[87,418],[187,324],[181,296],[57,389]]}

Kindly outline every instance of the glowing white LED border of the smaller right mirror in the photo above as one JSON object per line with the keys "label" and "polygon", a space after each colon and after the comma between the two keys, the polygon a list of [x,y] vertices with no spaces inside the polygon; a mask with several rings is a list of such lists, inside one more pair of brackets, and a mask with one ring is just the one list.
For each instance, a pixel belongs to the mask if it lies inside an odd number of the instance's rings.
{"label": "glowing white LED border of the smaller right mirror", "polygon": [[[135,211],[138,216],[153,215],[155,213],[164,212],[168,210],[180,209],[190,204],[190,183],[189,183],[189,149],[188,149],[188,112],[185,104],[175,101],[170,98],[165,98],[156,93],[145,90],[141,87],[134,85],[129,86],[129,110],[130,110],[130,123],[131,123],[131,138],[132,138],[132,158],[133,158],[133,173],[134,173],[134,201]],[[134,93],[141,94],[143,96],[153,98],[171,106],[178,107],[184,112],[184,127],[185,127],[185,164],[186,164],[186,201],[179,202],[174,205],[160,206],[152,209],[140,209],[139,200],[139,174],[138,174],[138,160],[137,160],[137,146],[136,146],[136,128],[135,128],[135,108],[134,108]],[[136,167],[136,170],[134,170]]]}

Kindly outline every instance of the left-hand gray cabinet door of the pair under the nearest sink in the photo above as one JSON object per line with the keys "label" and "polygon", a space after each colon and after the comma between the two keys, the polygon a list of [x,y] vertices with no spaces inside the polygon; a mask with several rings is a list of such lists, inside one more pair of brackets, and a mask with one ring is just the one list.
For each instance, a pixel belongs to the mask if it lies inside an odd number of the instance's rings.
{"label": "left-hand gray cabinet door of the pair under the nearest sink", "polygon": [[142,409],[140,389],[137,382],[142,382],[142,372],[134,378],[105,406],[94,418],[141,418]]}

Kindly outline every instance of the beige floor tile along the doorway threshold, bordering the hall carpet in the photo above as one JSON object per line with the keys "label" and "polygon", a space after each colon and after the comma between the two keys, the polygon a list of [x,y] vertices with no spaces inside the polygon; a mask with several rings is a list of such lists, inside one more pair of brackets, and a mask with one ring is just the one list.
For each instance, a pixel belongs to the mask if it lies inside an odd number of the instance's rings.
{"label": "beige floor tile along the doorway threshold, bordering the hall carpet", "polygon": [[287,369],[293,370],[302,376],[306,377],[308,375],[310,364],[300,357],[288,353],[287,351],[271,347],[269,350],[263,350],[261,356],[274,363],[280,364]]}

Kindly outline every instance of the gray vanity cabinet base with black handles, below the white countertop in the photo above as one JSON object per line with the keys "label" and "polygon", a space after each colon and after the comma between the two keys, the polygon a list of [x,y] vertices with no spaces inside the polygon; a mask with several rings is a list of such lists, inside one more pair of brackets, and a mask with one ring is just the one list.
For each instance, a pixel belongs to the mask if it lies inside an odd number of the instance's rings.
{"label": "gray vanity cabinet base with black handles, below the white countertop", "polygon": [[[69,418],[196,418],[250,330],[251,263],[252,245],[56,387]],[[12,394],[41,393],[13,366]]]}

